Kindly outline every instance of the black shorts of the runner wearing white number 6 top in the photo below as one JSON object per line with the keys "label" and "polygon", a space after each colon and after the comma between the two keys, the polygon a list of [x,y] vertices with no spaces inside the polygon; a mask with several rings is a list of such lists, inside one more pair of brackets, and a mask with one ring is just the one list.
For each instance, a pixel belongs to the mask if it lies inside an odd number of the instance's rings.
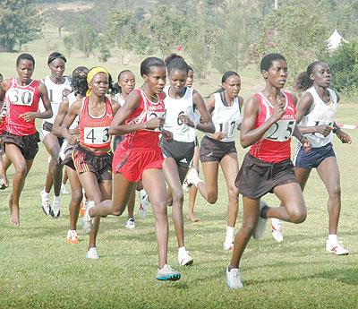
{"label": "black shorts of the runner wearing white number 6 top", "polygon": [[164,158],[175,159],[178,167],[190,167],[194,155],[195,142],[166,142],[165,138],[160,140]]}

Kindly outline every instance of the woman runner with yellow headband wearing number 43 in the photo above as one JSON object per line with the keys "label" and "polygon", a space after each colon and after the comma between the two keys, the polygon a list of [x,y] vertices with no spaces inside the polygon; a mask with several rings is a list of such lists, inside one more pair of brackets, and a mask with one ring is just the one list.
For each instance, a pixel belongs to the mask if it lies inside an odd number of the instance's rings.
{"label": "woman runner with yellow headband wearing number 43", "polygon": [[[89,90],[86,98],[77,99],[70,107],[62,125],[62,135],[70,144],[76,143],[72,151],[74,166],[81,185],[88,198],[88,206],[98,204],[112,196],[112,150],[108,133],[119,105],[111,105],[106,94],[109,88],[109,73],[101,66],[96,66],[87,75]],[[80,116],[80,141],[70,133],[70,126]],[[98,259],[96,237],[99,217],[94,220],[90,233],[88,259]]]}

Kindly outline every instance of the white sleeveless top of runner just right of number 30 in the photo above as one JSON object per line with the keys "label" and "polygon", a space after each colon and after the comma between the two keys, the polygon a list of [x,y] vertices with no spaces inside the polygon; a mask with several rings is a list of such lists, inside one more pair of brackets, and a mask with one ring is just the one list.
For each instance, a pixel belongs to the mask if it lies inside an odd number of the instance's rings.
{"label": "white sleeveless top of runner just right of number 30", "polygon": [[[58,114],[58,108],[66,97],[66,93],[72,90],[71,81],[67,76],[64,76],[64,83],[56,84],[55,82],[52,82],[49,75],[47,75],[47,77],[43,80],[43,83],[45,83],[47,87],[48,98],[51,101],[52,112],[54,113],[51,118],[45,119],[44,121],[53,124],[55,122],[55,116]],[[45,110],[42,102],[40,104],[40,110],[41,112]]]}

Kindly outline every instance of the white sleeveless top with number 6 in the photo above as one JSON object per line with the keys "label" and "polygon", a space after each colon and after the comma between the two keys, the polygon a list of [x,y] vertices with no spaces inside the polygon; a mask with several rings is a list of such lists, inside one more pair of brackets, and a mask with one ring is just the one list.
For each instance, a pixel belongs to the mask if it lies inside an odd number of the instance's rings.
{"label": "white sleeveless top with number 6", "polygon": [[173,133],[173,140],[176,142],[194,142],[196,137],[195,128],[183,124],[183,122],[178,119],[180,115],[187,115],[193,120],[192,88],[186,87],[183,98],[181,99],[170,98],[169,87],[166,87],[164,91],[166,92],[166,99],[164,99],[166,106],[166,123],[164,124],[164,129]]}

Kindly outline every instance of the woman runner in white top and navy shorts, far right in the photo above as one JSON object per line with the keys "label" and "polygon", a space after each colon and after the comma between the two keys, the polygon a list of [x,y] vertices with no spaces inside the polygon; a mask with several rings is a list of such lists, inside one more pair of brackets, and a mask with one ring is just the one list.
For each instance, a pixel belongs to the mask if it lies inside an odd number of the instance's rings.
{"label": "woman runner in white top and navy shorts, far right", "polygon": [[[328,64],[317,61],[299,75],[296,88],[306,91],[297,107],[296,120],[301,132],[311,142],[312,150],[305,153],[299,143],[294,156],[294,173],[304,189],[311,169],[317,168],[328,191],[328,239],[326,250],[337,255],[348,254],[348,250],[337,237],[339,213],[341,209],[341,185],[339,167],[332,146],[334,133],[343,143],[351,143],[351,138],[335,122],[339,98],[329,89],[331,73]],[[300,123],[301,122],[301,123]],[[283,239],[282,222],[273,222],[273,236]],[[277,230],[279,233],[275,232]]]}

